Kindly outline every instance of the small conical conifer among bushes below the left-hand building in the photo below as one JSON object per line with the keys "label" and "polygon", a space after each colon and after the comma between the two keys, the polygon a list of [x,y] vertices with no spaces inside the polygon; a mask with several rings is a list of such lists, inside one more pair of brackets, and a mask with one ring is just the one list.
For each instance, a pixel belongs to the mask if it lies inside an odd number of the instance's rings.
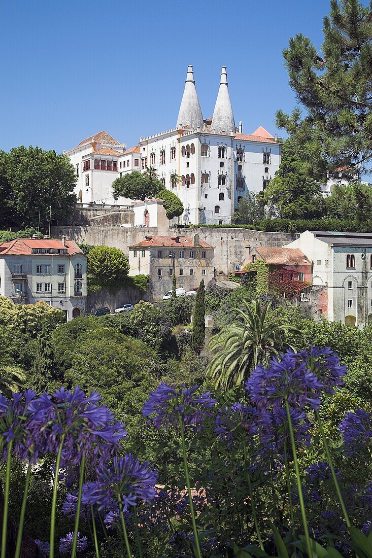
{"label": "small conical conifer among bushes below the left-hand building", "polygon": [[42,393],[56,377],[56,365],[53,345],[50,339],[50,328],[46,320],[42,324],[37,338],[37,350],[31,369],[36,392]]}

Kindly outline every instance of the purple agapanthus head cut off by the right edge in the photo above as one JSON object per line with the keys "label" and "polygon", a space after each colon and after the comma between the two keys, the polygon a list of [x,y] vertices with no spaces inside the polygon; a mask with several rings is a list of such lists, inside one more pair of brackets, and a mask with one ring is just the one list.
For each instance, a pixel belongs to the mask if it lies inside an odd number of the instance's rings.
{"label": "purple agapanthus head cut off by the right edge", "polygon": [[356,409],[354,413],[347,412],[345,419],[339,425],[344,436],[346,455],[359,453],[362,448],[372,449],[372,413],[363,409]]}

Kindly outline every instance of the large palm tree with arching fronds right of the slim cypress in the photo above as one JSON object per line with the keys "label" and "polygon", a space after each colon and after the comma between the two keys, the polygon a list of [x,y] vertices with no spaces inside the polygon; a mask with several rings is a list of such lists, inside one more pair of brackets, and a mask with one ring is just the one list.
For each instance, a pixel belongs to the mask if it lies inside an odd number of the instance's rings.
{"label": "large palm tree with arching fronds right of the slim cypress", "polygon": [[214,335],[208,343],[216,354],[208,364],[207,375],[214,387],[226,390],[241,386],[257,364],[269,364],[273,357],[289,348],[288,333],[302,336],[290,324],[280,324],[270,312],[271,302],[261,306],[259,300],[244,301],[244,309],[235,308],[236,319]]}

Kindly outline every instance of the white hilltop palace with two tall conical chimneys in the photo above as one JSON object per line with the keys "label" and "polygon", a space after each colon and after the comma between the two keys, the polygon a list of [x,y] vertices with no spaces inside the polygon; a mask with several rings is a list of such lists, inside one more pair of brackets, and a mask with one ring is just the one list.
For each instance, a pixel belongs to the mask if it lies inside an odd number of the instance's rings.
{"label": "white hilltop palace with two tall conical chimneys", "polygon": [[248,191],[263,191],[274,177],[281,148],[263,127],[249,135],[242,133],[241,122],[236,128],[225,66],[213,116],[203,119],[189,66],[175,128],[141,137],[129,150],[100,132],[65,153],[77,169],[80,202],[112,203],[115,178],[153,166],[164,186],[182,200],[180,222],[230,224],[240,198]]}

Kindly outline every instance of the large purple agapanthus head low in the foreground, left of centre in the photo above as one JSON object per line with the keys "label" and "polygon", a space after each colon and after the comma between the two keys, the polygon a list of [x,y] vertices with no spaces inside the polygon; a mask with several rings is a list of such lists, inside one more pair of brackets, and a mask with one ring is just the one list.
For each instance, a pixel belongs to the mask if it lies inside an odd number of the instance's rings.
{"label": "large purple agapanthus head low in the foreground, left of centre", "polygon": [[98,509],[116,509],[120,498],[123,511],[136,506],[137,500],[150,503],[155,496],[158,474],[150,464],[140,463],[135,455],[116,456],[111,465],[97,468],[97,480],[84,485],[82,504],[94,504]]}

